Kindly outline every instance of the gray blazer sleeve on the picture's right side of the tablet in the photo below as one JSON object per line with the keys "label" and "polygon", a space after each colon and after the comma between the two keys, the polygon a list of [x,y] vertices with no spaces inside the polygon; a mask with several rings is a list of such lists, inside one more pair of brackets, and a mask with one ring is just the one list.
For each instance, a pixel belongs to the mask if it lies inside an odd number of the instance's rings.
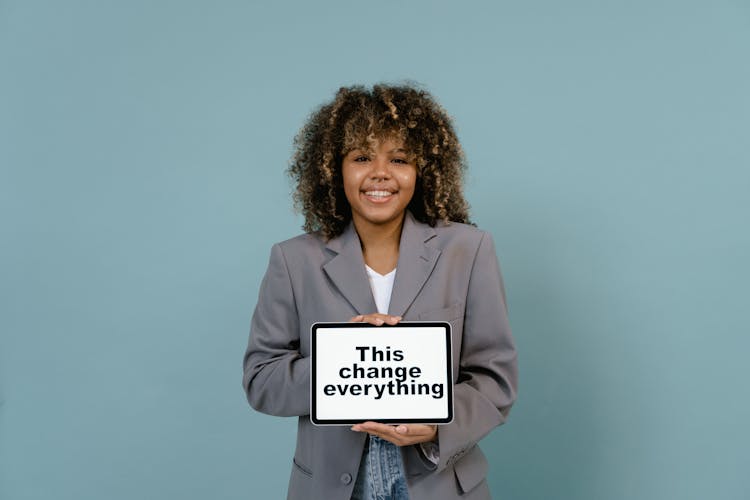
{"label": "gray blazer sleeve on the picture's right side of the tablet", "polygon": [[454,418],[451,424],[438,426],[438,471],[457,462],[505,422],[516,398],[516,358],[495,246],[492,237],[483,233],[466,297]]}

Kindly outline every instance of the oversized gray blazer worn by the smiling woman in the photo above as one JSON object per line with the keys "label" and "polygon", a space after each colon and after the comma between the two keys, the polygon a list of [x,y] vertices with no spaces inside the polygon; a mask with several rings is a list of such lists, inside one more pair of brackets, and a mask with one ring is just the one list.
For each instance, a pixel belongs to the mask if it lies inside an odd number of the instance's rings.
{"label": "oversized gray blazer worn by the smiling woman", "polygon": [[[304,234],[273,246],[243,385],[256,410],[300,417],[291,500],[348,500],[366,438],[347,426],[310,422],[310,326],[376,311],[352,224],[328,242]],[[449,321],[453,330],[454,421],[438,428],[437,465],[419,446],[402,448],[409,498],[490,498],[477,442],[508,417],[518,380],[490,235],[458,223],[432,228],[407,212],[388,312],[404,321]]]}

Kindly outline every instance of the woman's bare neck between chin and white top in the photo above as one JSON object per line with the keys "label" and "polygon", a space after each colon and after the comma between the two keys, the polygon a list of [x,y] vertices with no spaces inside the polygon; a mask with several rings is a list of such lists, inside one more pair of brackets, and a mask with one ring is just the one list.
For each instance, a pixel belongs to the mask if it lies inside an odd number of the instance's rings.
{"label": "woman's bare neck between chin and white top", "polygon": [[401,243],[404,218],[401,217],[387,224],[372,224],[358,221],[355,217],[353,222],[362,245],[365,264],[380,274],[393,271],[398,264],[398,248]]}

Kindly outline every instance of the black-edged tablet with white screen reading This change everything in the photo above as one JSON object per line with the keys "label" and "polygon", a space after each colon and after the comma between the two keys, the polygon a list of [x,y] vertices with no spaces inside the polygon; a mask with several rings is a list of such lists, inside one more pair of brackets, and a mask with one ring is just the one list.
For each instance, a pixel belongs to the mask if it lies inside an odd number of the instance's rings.
{"label": "black-edged tablet with white screen reading This change everything", "polygon": [[453,420],[450,323],[315,323],[310,345],[314,424]]}

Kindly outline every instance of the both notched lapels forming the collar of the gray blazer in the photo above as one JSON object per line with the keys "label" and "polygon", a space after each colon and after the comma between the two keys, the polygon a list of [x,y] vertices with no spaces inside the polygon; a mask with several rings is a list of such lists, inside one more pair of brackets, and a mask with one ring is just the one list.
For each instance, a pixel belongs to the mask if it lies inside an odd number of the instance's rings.
{"label": "both notched lapels forming the collar of the gray blazer", "polygon": [[[393,283],[388,313],[403,316],[432,273],[440,255],[434,245],[435,229],[423,224],[407,210],[401,229],[396,280]],[[358,314],[377,311],[365,271],[362,247],[354,224],[332,238],[326,248],[336,255],[323,270]]]}

